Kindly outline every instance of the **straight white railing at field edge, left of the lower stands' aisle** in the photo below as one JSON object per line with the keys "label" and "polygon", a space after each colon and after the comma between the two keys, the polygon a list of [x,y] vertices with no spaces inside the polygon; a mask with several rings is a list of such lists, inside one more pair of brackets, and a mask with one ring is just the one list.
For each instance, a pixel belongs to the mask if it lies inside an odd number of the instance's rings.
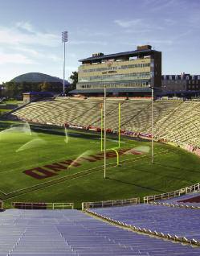
{"label": "straight white railing at field edge, left of the lower stands' aisle", "polygon": [[13,202],[16,209],[74,209],[74,203],[29,203]]}

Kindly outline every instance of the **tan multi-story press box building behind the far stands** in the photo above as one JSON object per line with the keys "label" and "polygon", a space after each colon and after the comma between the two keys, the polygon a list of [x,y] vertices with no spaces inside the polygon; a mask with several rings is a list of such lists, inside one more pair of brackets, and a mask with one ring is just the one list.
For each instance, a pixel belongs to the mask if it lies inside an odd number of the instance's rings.
{"label": "tan multi-story press box building behind the far stands", "polygon": [[145,96],[149,85],[161,89],[161,52],[150,45],[131,52],[93,54],[80,60],[78,83],[71,93],[103,93]]}

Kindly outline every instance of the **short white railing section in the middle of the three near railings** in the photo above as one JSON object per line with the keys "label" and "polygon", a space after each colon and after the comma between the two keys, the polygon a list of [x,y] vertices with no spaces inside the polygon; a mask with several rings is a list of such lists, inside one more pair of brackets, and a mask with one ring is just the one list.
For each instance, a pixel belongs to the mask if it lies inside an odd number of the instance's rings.
{"label": "short white railing section in the middle of the three near railings", "polygon": [[83,202],[82,210],[90,208],[102,208],[102,207],[112,207],[112,206],[123,206],[130,204],[140,204],[140,197],[121,199],[121,200],[106,200],[99,202]]}

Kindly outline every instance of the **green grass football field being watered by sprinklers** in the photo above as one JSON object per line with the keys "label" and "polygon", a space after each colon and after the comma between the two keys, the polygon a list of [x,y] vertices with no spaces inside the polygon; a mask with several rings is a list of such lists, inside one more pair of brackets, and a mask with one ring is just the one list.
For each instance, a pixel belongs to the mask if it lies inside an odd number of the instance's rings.
{"label": "green grass football field being watered by sprinklers", "polygon": [[[121,138],[121,148],[141,151],[142,155],[120,155],[119,167],[116,157],[107,159],[104,179],[104,159],[87,160],[100,153],[100,134],[76,130],[64,134],[61,129],[57,130],[63,134],[56,134],[29,130],[27,125],[6,126],[0,130],[0,198],[6,205],[12,201],[75,202],[80,208],[83,201],[143,197],[200,180],[200,159],[180,148],[155,143],[155,163],[151,164],[150,142]],[[107,147],[117,147],[117,138],[108,135]],[[76,161],[45,179],[23,172],[69,159]]]}

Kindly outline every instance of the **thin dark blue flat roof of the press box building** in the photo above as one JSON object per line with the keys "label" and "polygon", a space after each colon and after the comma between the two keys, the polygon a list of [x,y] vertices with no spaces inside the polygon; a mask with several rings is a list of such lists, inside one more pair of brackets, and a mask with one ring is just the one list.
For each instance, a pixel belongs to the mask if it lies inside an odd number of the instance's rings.
{"label": "thin dark blue flat roof of the press box building", "polygon": [[118,52],[118,53],[113,53],[113,54],[108,54],[108,55],[103,55],[103,56],[92,56],[92,57],[82,59],[79,61],[87,62],[90,60],[108,60],[108,59],[115,59],[115,58],[125,57],[125,56],[133,57],[133,56],[138,56],[138,54],[146,56],[146,55],[152,54],[153,52],[158,52],[158,51],[152,50],[152,49],[145,49],[145,50],[135,50],[135,51],[131,51],[131,52]]}

